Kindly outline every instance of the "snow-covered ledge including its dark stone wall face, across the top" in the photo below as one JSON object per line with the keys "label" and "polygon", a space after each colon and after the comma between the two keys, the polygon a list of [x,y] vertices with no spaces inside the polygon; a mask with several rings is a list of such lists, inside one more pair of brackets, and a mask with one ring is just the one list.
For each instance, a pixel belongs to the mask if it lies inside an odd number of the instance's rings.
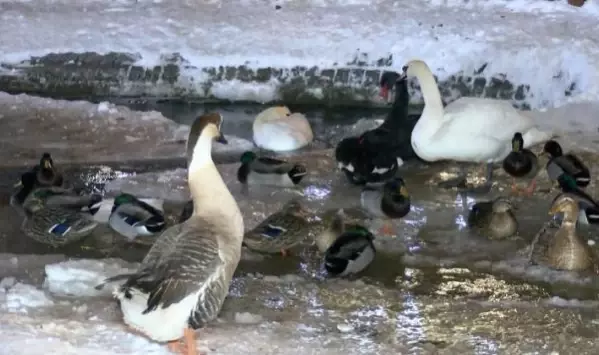
{"label": "snow-covered ledge including its dark stone wall face, across the top", "polygon": [[0,91],[11,93],[380,104],[381,72],[418,57],[446,102],[599,98],[599,48],[583,36],[596,30],[594,1],[7,0],[0,10]]}

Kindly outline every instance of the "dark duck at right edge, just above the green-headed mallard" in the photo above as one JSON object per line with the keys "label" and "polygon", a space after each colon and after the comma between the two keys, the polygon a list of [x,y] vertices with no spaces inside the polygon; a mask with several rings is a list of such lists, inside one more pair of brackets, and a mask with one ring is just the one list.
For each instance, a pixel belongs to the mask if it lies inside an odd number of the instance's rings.
{"label": "dark duck at right edge, just above the green-headed mallard", "polygon": [[554,140],[545,143],[543,154],[549,155],[545,168],[551,180],[558,181],[563,174],[574,178],[578,187],[586,187],[591,182],[589,168],[572,153],[564,154],[562,147]]}

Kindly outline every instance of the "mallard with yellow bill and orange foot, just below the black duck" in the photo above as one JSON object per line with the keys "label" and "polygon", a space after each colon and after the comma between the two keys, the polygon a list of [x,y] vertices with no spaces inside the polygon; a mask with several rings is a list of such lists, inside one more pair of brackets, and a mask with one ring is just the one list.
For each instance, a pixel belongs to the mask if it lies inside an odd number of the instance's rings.
{"label": "mallard with yellow bill and orange foot, just below the black duck", "polygon": [[410,194],[402,178],[387,181],[382,188],[365,187],[360,204],[372,217],[385,220],[379,230],[382,235],[394,235],[391,219],[405,217],[410,212]]}

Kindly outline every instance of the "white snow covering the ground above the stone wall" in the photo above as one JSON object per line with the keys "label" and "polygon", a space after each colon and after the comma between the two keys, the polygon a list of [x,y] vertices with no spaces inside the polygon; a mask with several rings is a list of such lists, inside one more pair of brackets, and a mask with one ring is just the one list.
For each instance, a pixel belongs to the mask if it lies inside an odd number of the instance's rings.
{"label": "white snow covering the ground above the stone wall", "polygon": [[[180,53],[186,67],[323,68],[366,53],[371,63],[392,55],[395,69],[419,57],[441,80],[489,62],[486,75],[530,85],[532,107],[599,99],[597,0],[581,8],[545,0],[13,0],[0,10],[0,62],[116,51],[135,53],[147,67]],[[201,70],[184,70],[194,76],[185,85],[202,85]],[[236,84],[219,83],[214,93],[278,95],[272,82]]]}

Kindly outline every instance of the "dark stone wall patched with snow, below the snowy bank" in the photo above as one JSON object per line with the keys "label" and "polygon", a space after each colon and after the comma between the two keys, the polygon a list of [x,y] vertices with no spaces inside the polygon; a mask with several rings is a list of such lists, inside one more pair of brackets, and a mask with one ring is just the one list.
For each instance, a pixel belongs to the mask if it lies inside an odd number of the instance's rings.
{"label": "dark stone wall patched with snow, below the snowy bank", "polygon": [[[345,65],[330,68],[264,67],[245,65],[197,68],[178,55],[164,58],[153,68],[136,66],[139,57],[126,53],[60,53],[34,57],[17,64],[0,66],[0,91],[30,93],[67,99],[105,97],[219,101],[212,86],[225,80],[270,82],[275,80],[281,99],[293,104],[380,105],[377,83],[393,59],[367,60],[357,56]],[[512,100],[528,108],[531,97],[526,83],[512,83],[501,73],[485,72],[487,65],[473,73],[456,73],[439,83],[444,101],[460,96],[484,96]],[[490,78],[490,79],[488,79]],[[574,83],[568,90],[575,88]],[[568,90],[564,95],[569,95]],[[414,103],[421,102],[415,82],[411,83]]]}

